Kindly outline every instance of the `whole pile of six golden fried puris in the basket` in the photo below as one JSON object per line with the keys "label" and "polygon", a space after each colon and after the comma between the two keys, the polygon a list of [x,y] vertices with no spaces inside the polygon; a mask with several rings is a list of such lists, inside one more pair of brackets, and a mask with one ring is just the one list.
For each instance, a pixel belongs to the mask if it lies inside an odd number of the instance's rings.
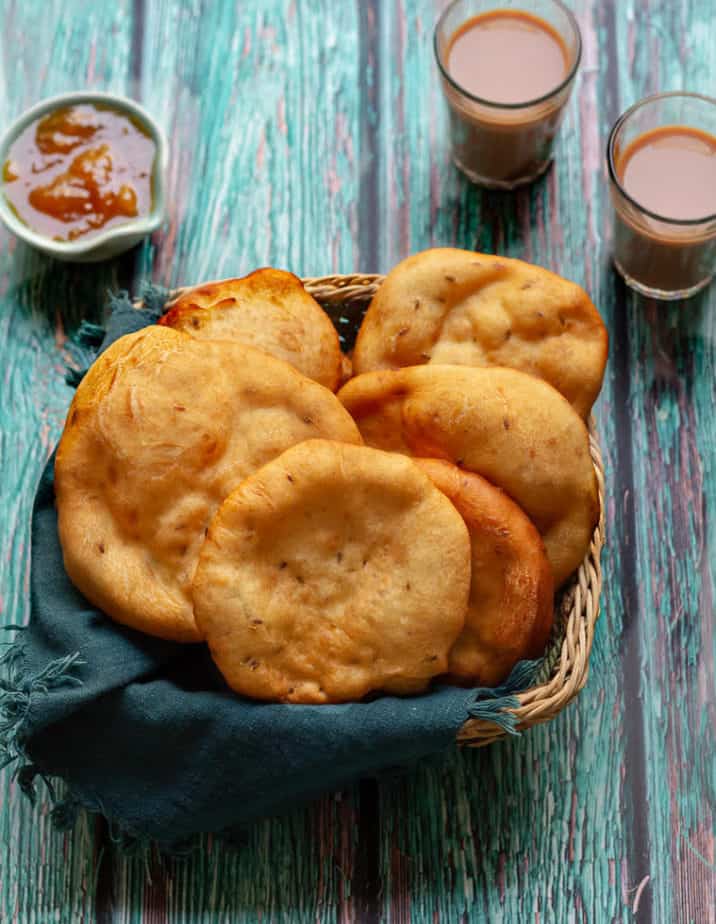
{"label": "whole pile of six golden fried puris in the basket", "polygon": [[290,273],[185,290],[77,390],[65,568],[117,622],[206,642],[247,697],[496,685],[542,654],[589,548],[606,357],[579,286],[461,250],[386,277],[348,381]]}

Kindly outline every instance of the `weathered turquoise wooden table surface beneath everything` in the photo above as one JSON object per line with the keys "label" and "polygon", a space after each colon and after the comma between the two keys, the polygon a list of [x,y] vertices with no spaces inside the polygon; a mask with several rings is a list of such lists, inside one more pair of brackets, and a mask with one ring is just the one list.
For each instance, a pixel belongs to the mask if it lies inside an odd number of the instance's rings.
{"label": "weathered turquoise wooden table surface beneath everything", "polygon": [[716,87],[713,0],[575,0],[584,57],[556,167],[483,193],[450,166],[437,0],[4,0],[0,121],[90,87],[171,139],[170,214],[114,262],[0,240],[0,621],[27,618],[28,524],[70,401],[67,338],[107,289],[265,264],[380,272],[456,244],[582,283],[612,338],[608,475],[589,683],[559,718],[207,838],[125,858],[102,822],[57,833],[0,776],[0,921],[716,920],[716,286],[667,307],[609,265],[609,127],[659,89]]}

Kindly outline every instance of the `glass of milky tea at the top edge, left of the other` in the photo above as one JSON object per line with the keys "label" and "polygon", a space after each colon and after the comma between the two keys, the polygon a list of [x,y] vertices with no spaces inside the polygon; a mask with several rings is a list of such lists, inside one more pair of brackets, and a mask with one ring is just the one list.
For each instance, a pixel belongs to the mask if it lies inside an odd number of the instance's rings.
{"label": "glass of milky tea at the top edge, left of the other", "polygon": [[582,41],[559,0],[454,0],[435,27],[452,157],[474,183],[514,189],[542,174]]}

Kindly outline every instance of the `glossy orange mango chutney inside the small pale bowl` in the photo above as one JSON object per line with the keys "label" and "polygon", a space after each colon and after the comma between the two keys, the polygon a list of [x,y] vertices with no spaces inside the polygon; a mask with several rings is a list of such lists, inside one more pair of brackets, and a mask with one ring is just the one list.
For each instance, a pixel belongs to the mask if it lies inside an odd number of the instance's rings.
{"label": "glossy orange mango chutney inside the small pale bowl", "polygon": [[33,231],[73,241],[149,214],[156,145],[105,105],[55,109],[25,128],[3,164],[3,192]]}

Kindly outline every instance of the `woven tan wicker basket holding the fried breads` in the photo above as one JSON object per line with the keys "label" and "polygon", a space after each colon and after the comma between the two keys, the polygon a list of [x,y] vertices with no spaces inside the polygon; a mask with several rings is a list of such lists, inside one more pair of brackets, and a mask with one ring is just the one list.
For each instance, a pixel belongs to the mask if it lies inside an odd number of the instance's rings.
{"label": "woven tan wicker basket holding the fried breads", "polygon": [[[344,349],[352,348],[366,308],[383,278],[378,275],[350,275],[316,276],[303,280],[306,289],[333,321]],[[174,290],[168,304],[192,288],[195,286]],[[604,545],[604,467],[594,419],[589,422],[589,448],[599,484],[599,523],[584,561],[556,601],[555,626],[545,658],[544,679],[536,686],[515,694],[519,705],[511,711],[518,730],[549,722],[587,682],[589,654],[599,616],[602,587],[599,557]],[[493,722],[469,719],[458,732],[457,740],[460,744],[482,747],[505,734]]]}

